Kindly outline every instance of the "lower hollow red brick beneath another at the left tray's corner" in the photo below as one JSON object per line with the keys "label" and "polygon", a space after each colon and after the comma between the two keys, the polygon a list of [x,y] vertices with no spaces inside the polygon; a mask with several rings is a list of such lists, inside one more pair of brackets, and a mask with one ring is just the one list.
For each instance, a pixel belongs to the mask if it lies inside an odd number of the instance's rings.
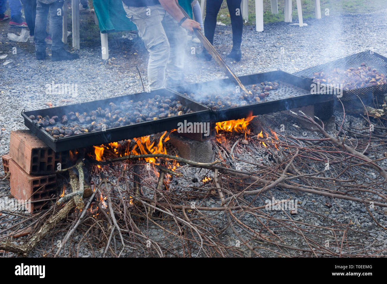
{"label": "lower hollow red brick beneath another at the left tray's corner", "polygon": [[[57,195],[57,175],[29,175],[13,160],[9,160],[11,194],[16,199],[31,199],[29,212],[51,206],[51,201],[41,201]],[[34,202],[38,201],[38,202]]]}

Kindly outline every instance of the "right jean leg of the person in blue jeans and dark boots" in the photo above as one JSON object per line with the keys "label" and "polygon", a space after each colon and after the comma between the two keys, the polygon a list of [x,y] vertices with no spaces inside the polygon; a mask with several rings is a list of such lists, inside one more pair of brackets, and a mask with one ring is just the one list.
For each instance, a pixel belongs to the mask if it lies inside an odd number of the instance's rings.
{"label": "right jean leg of the person in blue jeans and dark boots", "polygon": [[[62,41],[62,14],[63,2],[56,1],[50,4],[50,35],[52,39],[51,51],[63,49]],[[58,13],[58,10],[61,13]],[[60,14],[60,15],[58,15]]]}

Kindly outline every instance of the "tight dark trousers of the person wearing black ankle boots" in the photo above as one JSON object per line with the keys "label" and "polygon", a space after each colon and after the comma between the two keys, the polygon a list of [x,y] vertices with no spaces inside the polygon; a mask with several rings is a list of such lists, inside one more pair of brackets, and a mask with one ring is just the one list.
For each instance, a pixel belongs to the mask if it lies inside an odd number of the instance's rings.
{"label": "tight dark trousers of the person wearing black ankle boots", "polygon": [[[208,0],[206,2],[204,35],[205,37],[207,37],[210,43],[214,42],[216,17],[219,13],[222,2],[223,0]],[[241,0],[227,0],[228,11],[230,13],[231,18],[231,26],[233,29],[233,48],[237,49],[240,48],[242,43],[243,19],[241,11],[241,2]]]}

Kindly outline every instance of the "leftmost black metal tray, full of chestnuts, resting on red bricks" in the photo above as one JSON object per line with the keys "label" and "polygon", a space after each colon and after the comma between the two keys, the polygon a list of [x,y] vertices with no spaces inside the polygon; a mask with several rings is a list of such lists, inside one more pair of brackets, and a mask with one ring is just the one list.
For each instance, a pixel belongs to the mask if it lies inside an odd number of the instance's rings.
{"label": "leftmost black metal tray, full of chestnuts, resting on red bricks", "polygon": [[[192,111],[189,114],[183,114],[180,116],[171,116],[154,121],[146,121],[135,123],[127,126],[120,126],[116,128],[106,129],[106,131],[95,131],[90,133],[82,133],[78,135],[62,137],[55,139],[50,134],[48,134],[41,126],[35,125],[29,116],[33,114],[34,116],[60,116],[62,114],[67,114],[70,111],[73,112],[84,112],[97,109],[98,107],[104,107],[110,102],[119,104],[123,100],[136,100],[136,99],[148,99],[152,98],[155,95],[174,95],[176,99],[180,100],[183,105],[187,105]],[[204,105],[198,104],[193,100],[185,97],[183,95],[175,94],[167,89],[156,90],[153,92],[143,92],[131,95],[124,95],[120,97],[113,97],[104,100],[95,100],[91,102],[85,102],[81,104],[72,104],[65,105],[61,107],[52,107],[48,109],[39,109],[36,111],[23,111],[22,117],[24,118],[24,124],[29,128],[36,136],[42,139],[52,150],[55,152],[58,151],[67,151],[74,150],[77,148],[101,145],[105,143],[121,141],[123,139],[131,139],[134,137],[149,135],[153,133],[158,133],[161,131],[169,131],[171,129],[178,128],[178,122],[187,120],[187,122],[209,122],[214,119],[212,113]]]}

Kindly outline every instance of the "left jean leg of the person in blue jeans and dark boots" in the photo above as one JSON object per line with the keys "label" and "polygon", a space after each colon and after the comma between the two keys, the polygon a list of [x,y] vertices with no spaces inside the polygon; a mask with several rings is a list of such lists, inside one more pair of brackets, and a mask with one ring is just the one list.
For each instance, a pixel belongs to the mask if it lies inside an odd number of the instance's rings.
{"label": "left jean leg of the person in blue jeans and dark boots", "polygon": [[46,53],[46,27],[47,27],[47,15],[50,6],[44,4],[39,0],[36,2],[36,20],[35,20],[35,50],[36,52]]}

